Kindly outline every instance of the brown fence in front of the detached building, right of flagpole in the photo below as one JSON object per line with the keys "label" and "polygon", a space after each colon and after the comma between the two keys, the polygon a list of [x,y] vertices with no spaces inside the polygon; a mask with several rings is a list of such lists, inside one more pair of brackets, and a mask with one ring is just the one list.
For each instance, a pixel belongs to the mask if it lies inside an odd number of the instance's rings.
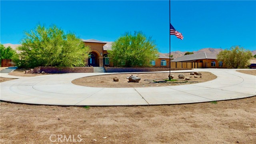
{"label": "brown fence in front of the detached building, right of flagpole", "polygon": [[202,62],[171,62],[171,68],[203,68]]}

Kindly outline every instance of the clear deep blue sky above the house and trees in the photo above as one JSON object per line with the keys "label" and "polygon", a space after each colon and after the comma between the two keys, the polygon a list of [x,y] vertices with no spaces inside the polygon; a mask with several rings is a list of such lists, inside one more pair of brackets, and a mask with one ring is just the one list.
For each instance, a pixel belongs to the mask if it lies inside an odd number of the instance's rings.
{"label": "clear deep blue sky above the house and trees", "polygon": [[[152,36],[169,52],[169,1],[0,1],[0,42],[18,44],[37,24],[74,32],[82,39],[114,41],[124,32]],[[256,1],[171,1],[171,51],[201,48],[256,50]]]}

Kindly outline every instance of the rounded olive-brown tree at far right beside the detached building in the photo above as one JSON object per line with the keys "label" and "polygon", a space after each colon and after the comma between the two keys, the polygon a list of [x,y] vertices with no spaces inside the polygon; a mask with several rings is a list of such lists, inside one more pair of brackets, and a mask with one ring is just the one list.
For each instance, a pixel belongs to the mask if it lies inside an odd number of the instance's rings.
{"label": "rounded olive-brown tree at far right beside the detached building", "polygon": [[240,46],[232,46],[217,55],[217,60],[222,61],[227,68],[246,68],[251,58],[252,52]]}

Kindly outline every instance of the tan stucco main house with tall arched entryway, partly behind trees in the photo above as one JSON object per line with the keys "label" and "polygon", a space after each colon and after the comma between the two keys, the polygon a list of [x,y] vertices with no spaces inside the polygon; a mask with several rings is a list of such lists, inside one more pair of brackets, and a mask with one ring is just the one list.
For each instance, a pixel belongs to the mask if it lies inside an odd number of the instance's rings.
{"label": "tan stucco main house with tall arched entryway, partly behind trees", "polygon": [[[88,66],[109,66],[114,67],[114,64],[110,62],[108,57],[108,50],[112,48],[112,42],[102,42],[100,40],[82,40],[86,46],[91,49],[90,58],[88,58]],[[171,58],[173,60],[173,58]],[[169,67],[169,57],[159,55],[156,60],[150,61],[152,67]]]}

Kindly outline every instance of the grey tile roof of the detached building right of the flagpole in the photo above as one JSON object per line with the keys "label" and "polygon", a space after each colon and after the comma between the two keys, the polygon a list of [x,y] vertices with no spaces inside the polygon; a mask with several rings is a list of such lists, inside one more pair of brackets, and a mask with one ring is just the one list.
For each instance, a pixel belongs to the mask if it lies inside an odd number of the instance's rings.
{"label": "grey tile roof of the detached building right of the flagpole", "polygon": [[207,52],[202,52],[202,53],[198,53],[198,54],[184,55],[184,56],[181,56],[181,57],[176,58],[171,61],[172,62],[185,62],[185,61],[201,60],[201,59],[217,59],[217,56],[215,54],[209,54]]}

